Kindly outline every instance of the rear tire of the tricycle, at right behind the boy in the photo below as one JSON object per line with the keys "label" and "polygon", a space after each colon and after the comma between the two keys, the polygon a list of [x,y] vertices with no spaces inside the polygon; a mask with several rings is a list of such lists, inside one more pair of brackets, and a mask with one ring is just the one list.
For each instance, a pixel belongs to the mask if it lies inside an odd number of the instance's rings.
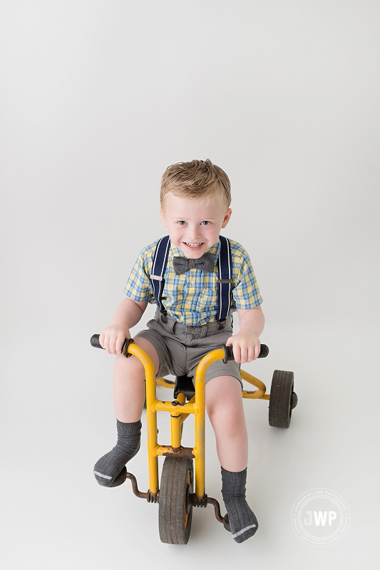
{"label": "rear tire of the tricycle, at right behind the boy", "polygon": [[294,374],[284,370],[275,370],[269,394],[269,425],[289,427],[292,419],[290,399],[294,386]]}

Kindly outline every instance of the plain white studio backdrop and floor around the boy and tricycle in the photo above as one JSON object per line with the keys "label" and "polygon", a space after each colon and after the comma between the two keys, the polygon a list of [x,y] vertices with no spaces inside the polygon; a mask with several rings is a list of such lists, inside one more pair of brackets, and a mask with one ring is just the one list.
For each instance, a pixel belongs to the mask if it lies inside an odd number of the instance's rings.
{"label": "plain white studio backdrop and floor around the boy and tricycle", "polygon": [[[181,554],[185,569],[195,556],[374,569],[379,3],[3,0],[0,20],[4,568],[164,568]],[[207,157],[230,177],[225,234],[250,252],[264,299],[271,353],[245,368],[268,390],[274,368],[293,370],[299,407],[279,432],[264,402],[245,403],[255,538],[235,544],[209,507],[188,546],[168,546],[156,505],[93,479],[115,420],[113,357],[89,338],[165,234],[165,167]],[[220,500],[207,436],[206,492]],[[130,470],[146,490],[144,446]],[[290,524],[315,487],[351,512],[327,548]]]}

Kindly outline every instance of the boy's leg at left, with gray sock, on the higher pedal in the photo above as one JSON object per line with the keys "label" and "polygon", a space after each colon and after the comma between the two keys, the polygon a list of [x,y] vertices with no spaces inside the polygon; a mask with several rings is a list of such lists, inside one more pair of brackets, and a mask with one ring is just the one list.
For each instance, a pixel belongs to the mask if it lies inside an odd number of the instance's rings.
{"label": "boy's leg at left, with gray sock, on the higher pedal", "polygon": [[[135,344],[143,348],[152,358],[158,372],[158,355],[153,345],[145,338],[136,338]],[[141,412],[145,400],[145,371],[136,356],[115,358],[113,374],[113,403],[117,419],[118,442],[103,455],[93,468],[94,475],[103,487],[115,486],[117,477],[125,464],[140,449]],[[123,478],[120,479],[120,483]]]}

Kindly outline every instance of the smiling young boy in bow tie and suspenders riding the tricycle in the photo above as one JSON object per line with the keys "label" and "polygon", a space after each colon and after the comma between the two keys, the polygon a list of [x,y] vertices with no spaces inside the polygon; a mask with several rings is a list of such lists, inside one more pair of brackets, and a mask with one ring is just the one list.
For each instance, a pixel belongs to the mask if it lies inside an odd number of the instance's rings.
{"label": "smiling young boy in bow tie and suspenders riding the tricycle", "polygon": [[[250,258],[240,244],[229,240],[230,306],[225,318],[219,318],[220,229],[230,219],[230,202],[230,180],[210,160],[180,162],[165,171],[160,216],[170,242],[164,287],[155,318],[134,341],[152,358],[158,378],[167,374],[193,377],[205,354],[223,343],[232,346],[235,361],[217,361],[208,368],[205,397],[222,467],[222,496],[232,537],[242,542],[255,534],[257,519],[245,500],[248,445],[240,363],[253,361],[260,353],[264,316]],[[120,351],[148,303],[156,302],[153,263],[158,242],[140,253],[124,290],[125,299],[99,339],[108,353],[117,355],[113,400],[118,442],[94,467],[96,480],[105,487],[119,484],[118,475],[140,447],[145,373],[138,358],[123,358]],[[205,265],[197,265],[202,261]],[[235,335],[233,311],[240,321],[240,331]]]}

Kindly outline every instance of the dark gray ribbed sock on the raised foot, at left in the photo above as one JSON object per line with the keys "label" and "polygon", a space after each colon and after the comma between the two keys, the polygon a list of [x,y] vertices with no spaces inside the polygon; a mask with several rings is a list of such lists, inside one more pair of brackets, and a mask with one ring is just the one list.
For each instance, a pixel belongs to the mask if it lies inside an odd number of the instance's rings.
{"label": "dark gray ribbed sock on the raised foot, at left", "polygon": [[[125,467],[125,463],[140,449],[141,422],[123,423],[117,420],[118,442],[106,455],[103,455],[93,467],[96,480],[103,487],[111,487],[116,477]],[[121,482],[124,482],[124,479]]]}

